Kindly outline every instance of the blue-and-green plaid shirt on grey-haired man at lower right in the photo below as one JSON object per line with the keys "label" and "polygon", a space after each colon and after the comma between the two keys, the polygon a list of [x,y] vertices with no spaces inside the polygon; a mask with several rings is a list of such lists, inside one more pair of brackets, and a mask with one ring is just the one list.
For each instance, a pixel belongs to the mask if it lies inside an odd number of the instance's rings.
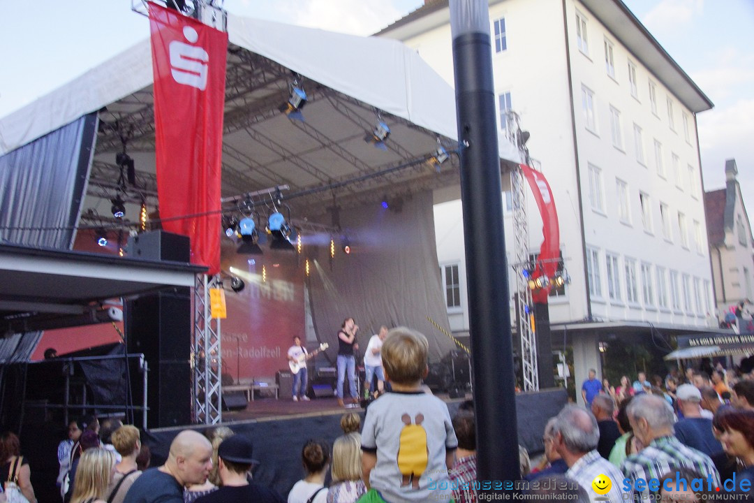
{"label": "blue-and-green plaid shirt on grey-haired man at lower right", "polygon": [[655,438],[641,452],[628,456],[621,469],[626,478],[630,479],[634,489],[636,480],[644,481],[643,490],[635,489],[634,493],[646,500],[650,493],[659,494],[659,490],[650,492],[648,480],[660,480],[660,477],[680,467],[696,471],[704,480],[712,477],[713,489],[720,486],[719,474],[710,457],[697,449],[683,445],[673,435]]}

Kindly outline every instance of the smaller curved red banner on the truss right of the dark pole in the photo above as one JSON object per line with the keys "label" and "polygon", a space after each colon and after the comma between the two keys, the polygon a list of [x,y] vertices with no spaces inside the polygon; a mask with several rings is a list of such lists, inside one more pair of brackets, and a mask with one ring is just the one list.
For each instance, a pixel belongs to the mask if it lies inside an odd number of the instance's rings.
{"label": "smaller curved red banner on the truss right of the dark pole", "polygon": [[[537,268],[534,274],[538,278],[544,272],[547,278],[553,278],[558,268],[558,259],[560,258],[560,225],[558,223],[558,212],[555,209],[555,200],[553,191],[550,190],[550,184],[539,171],[533,170],[526,164],[520,164],[521,172],[529,182],[532,188],[534,198],[537,201],[539,213],[542,216],[542,235],[544,240],[539,248],[538,260],[542,261],[542,268]],[[547,295],[550,293],[549,288],[543,288],[532,292],[534,302],[547,304]]]}

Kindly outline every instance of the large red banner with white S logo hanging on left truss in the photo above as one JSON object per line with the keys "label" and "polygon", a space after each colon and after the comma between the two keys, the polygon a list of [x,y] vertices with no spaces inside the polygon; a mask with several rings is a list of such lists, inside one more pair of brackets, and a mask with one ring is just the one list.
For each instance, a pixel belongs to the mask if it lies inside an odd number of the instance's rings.
{"label": "large red banner with white S logo hanging on left truss", "polygon": [[[191,238],[191,261],[220,268],[220,173],[228,34],[149,3],[162,226]],[[197,215],[191,218],[182,216]]]}

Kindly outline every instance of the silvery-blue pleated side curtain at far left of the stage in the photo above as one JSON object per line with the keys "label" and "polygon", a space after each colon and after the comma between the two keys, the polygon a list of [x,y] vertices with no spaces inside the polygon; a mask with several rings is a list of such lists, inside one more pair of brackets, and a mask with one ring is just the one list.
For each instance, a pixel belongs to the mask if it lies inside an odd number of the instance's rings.
{"label": "silvery-blue pleated side curtain at far left of the stage", "polygon": [[[0,157],[0,241],[70,250],[81,214],[97,114]],[[26,361],[41,332],[0,339],[0,361]]]}

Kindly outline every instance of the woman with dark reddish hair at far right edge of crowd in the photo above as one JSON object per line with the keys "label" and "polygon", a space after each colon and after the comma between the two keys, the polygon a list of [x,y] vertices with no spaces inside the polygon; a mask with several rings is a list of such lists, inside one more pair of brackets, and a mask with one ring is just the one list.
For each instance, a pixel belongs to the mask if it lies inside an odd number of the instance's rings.
{"label": "woman with dark reddish hair at far right edge of crowd", "polygon": [[728,409],[716,419],[722,431],[722,449],[743,465],[743,470],[736,474],[736,486],[740,487],[741,480],[749,480],[751,498],[754,496],[754,410]]}

